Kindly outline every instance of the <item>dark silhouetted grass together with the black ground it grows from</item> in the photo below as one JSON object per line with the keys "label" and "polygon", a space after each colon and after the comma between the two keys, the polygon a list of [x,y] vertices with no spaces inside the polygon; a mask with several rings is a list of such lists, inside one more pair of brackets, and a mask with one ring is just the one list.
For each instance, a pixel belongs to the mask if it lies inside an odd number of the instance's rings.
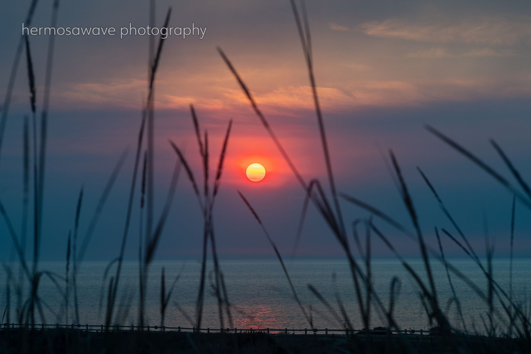
{"label": "dark silhouetted grass together with the black ground it grows from", "polygon": [[[33,13],[35,12],[38,0],[32,0],[28,17],[25,24],[29,25]],[[151,3],[151,18],[154,18],[154,0]],[[432,127],[427,130],[434,134],[438,139],[451,146],[451,148],[463,154],[467,159],[483,169],[488,175],[497,180],[506,188],[512,196],[512,218],[510,225],[510,246],[511,246],[511,265],[510,265],[510,285],[509,289],[504,289],[493,277],[492,256],[493,246],[486,237],[486,255],[487,260],[482,261],[476,250],[470,245],[467,236],[459,228],[456,219],[452,217],[451,211],[447,209],[442,201],[442,197],[436,192],[435,186],[421,169],[418,169],[419,175],[426,183],[427,193],[433,194],[436,202],[445,217],[448,219],[451,228],[444,229],[434,226],[429,232],[434,230],[434,235],[438,241],[438,249],[426,244],[425,238],[428,232],[421,228],[418,220],[415,203],[410,195],[406,180],[402,176],[398,159],[392,151],[389,153],[389,169],[392,178],[396,183],[401,201],[404,203],[408,213],[408,220],[398,221],[380,211],[375,206],[363,202],[337,190],[335,177],[332,172],[332,163],[328,149],[327,136],[324,131],[324,123],[319,105],[318,90],[315,84],[313,73],[313,59],[311,50],[311,36],[309,30],[309,21],[306,16],[304,2],[297,5],[294,0],[290,0],[293,10],[296,27],[301,39],[304,59],[309,73],[310,86],[313,93],[315,105],[315,114],[319,127],[319,133],[322,144],[324,162],[326,164],[327,180],[321,183],[319,179],[305,179],[299,173],[294,161],[290,159],[277,136],[269,125],[268,120],[262,114],[262,111],[254,101],[251,90],[247,88],[241,76],[238,75],[235,66],[229,61],[225,53],[218,48],[222,60],[228,69],[234,75],[239,86],[245,93],[251,103],[251,108],[260,119],[260,122],[270,135],[271,139],[277,146],[287,165],[292,170],[298,183],[304,190],[306,198],[299,221],[298,232],[296,235],[296,244],[301,237],[302,227],[306,210],[310,203],[315,206],[323,220],[330,227],[332,239],[337,241],[349,264],[349,272],[352,276],[352,295],[349,301],[355,301],[358,306],[359,315],[353,318],[345,310],[344,300],[339,296],[336,299],[326,299],[321,295],[320,289],[315,288],[312,284],[308,289],[328,311],[333,318],[333,326],[345,329],[346,335],[293,335],[293,334],[267,334],[263,332],[249,333],[190,333],[190,332],[173,332],[173,331],[113,331],[113,325],[118,323],[136,323],[139,326],[149,325],[145,319],[145,299],[147,296],[146,284],[148,283],[149,267],[156,254],[156,249],[162,231],[164,230],[165,221],[168,217],[169,210],[172,206],[175,188],[181,169],[184,169],[188,179],[192,184],[193,191],[198,199],[203,213],[202,235],[202,261],[201,273],[198,281],[198,295],[195,300],[195,308],[186,313],[178,304],[170,303],[170,298],[175,290],[178,277],[167,286],[165,282],[164,268],[160,277],[160,327],[164,326],[165,314],[168,306],[176,306],[183,314],[183,317],[189,321],[190,326],[201,328],[204,326],[204,298],[211,293],[217,299],[219,313],[219,327],[225,328],[228,323],[229,327],[234,327],[234,308],[230,303],[228,291],[225,286],[223,273],[218,262],[216,253],[216,238],[213,228],[213,206],[220,187],[220,180],[223,170],[223,161],[229,141],[232,122],[229,122],[225,140],[222,145],[217,169],[215,173],[209,170],[211,153],[208,145],[207,131],[200,128],[199,120],[193,107],[191,107],[192,122],[195,130],[195,137],[198,142],[198,148],[201,158],[201,176],[196,178],[189,162],[185,159],[184,154],[178,146],[170,142],[168,148],[173,149],[176,153],[176,163],[173,172],[172,182],[168,188],[168,194],[164,203],[164,208],[156,218],[153,210],[154,198],[154,178],[153,163],[155,160],[154,152],[154,124],[155,115],[153,109],[154,101],[154,84],[156,82],[156,73],[159,65],[159,59],[162,53],[164,39],[160,38],[158,45],[154,41],[154,36],[150,37],[149,65],[150,73],[148,80],[148,95],[144,102],[141,115],[141,122],[134,155],[134,168],[131,176],[131,189],[127,201],[126,219],[124,222],[124,232],[122,235],[121,248],[117,250],[117,257],[109,263],[105,275],[102,279],[102,290],[100,297],[100,310],[104,309],[105,316],[101,325],[103,331],[87,332],[74,329],[47,329],[47,330],[29,330],[29,328],[38,327],[39,323],[49,323],[46,321],[45,309],[52,313],[57,323],[68,323],[70,319],[75,323],[81,323],[79,316],[78,301],[78,284],[83,281],[79,278],[78,272],[82,265],[83,257],[87,251],[93,232],[95,232],[98,218],[109,196],[110,190],[116,180],[119,171],[125,162],[125,154],[118,160],[108,183],[99,198],[98,206],[93,212],[89,227],[81,238],[79,230],[79,219],[82,214],[83,205],[83,188],[79,193],[78,202],[75,208],[75,220],[73,230],[66,237],[65,235],[65,273],[56,274],[42,270],[39,267],[39,245],[42,243],[42,215],[43,215],[43,198],[45,188],[45,162],[46,162],[46,144],[47,144],[47,119],[48,105],[50,95],[50,85],[53,67],[53,49],[54,36],[50,36],[47,60],[46,74],[44,85],[44,99],[42,103],[42,113],[40,121],[37,118],[36,108],[36,83],[33,71],[31,56],[31,46],[28,36],[21,37],[19,46],[15,53],[10,81],[6,92],[6,98],[1,108],[0,115],[0,148],[4,136],[4,128],[8,116],[8,108],[11,100],[11,94],[14,87],[15,76],[22,53],[25,50],[25,60],[28,73],[28,83],[30,91],[31,115],[24,118],[23,122],[23,196],[22,196],[22,225],[17,229],[10,216],[12,205],[6,205],[0,201],[0,214],[5,223],[8,235],[12,240],[16,254],[19,258],[18,266],[7,263],[3,264],[4,271],[7,275],[5,292],[5,309],[3,309],[2,321],[0,323],[19,323],[24,324],[26,328],[0,330],[0,352],[1,353],[530,353],[531,352],[531,322],[528,313],[529,304],[519,303],[513,298],[512,292],[512,249],[513,249],[513,230],[515,223],[516,206],[523,206],[531,210],[531,188],[520,176],[518,170],[513,166],[510,159],[506,156],[498,144],[492,141],[495,151],[499,154],[504,164],[510,172],[511,178],[503,177],[500,172],[486,165],[474,154],[463,148],[446,135],[443,135]],[[59,0],[53,2],[52,26],[56,26]],[[299,15],[301,13],[301,15]],[[171,9],[168,10],[165,27],[167,27],[171,15]],[[1,152],[1,151],[0,151]],[[0,154],[1,155],[1,154]],[[211,177],[209,177],[211,176]],[[212,179],[212,181],[210,179]],[[513,182],[511,182],[511,180]],[[213,183],[212,183],[213,182]],[[31,193],[30,193],[31,192]],[[282,260],[282,256],[268,234],[267,228],[262,223],[259,215],[252,208],[253,201],[247,200],[243,194],[239,194],[243,202],[249,207],[253,217],[259,222],[265,236],[268,238],[273,251],[278,256],[278,260],[284,270],[286,280],[289,283],[293,294],[293,301],[298,305],[301,313],[306,318],[310,329],[314,329],[311,307],[303,304],[297,296],[297,289],[290,280],[288,271]],[[31,196],[31,197],[30,197]],[[356,219],[356,215],[347,214],[340,204],[340,199],[345,203],[354,204],[363,210],[363,215],[369,213],[368,218]],[[331,202],[329,202],[331,201]],[[518,203],[518,204],[517,204]],[[10,203],[11,204],[11,203]],[[139,211],[139,220],[132,221],[133,208]],[[138,222],[138,224],[136,223]],[[139,236],[139,276],[138,276],[138,297],[139,303],[127,306],[118,306],[119,292],[123,291],[121,280],[122,263],[124,252],[129,234],[132,233],[133,225],[140,225],[138,228]],[[404,235],[412,240],[412,245],[418,247],[419,255],[423,259],[424,270],[415,271],[413,267],[401,257],[395,247],[391,244],[388,237],[382,231],[381,225],[387,225],[393,228],[393,232]],[[350,228],[350,229],[349,229]],[[509,229],[509,228],[508,228]],[[360,232],[363,232],[365,240],[362,239]],[[79,235],[79,243],[78,243]],[[352,235],[352,236],[351,236]],[[26,244],[30,236],[33,244],[32,259],[27,255]],[[466,275],[456,269],[444,257],[444,250],[441,243],[441,237],[448,237],[453,243],[458,245],[463,252],[472,258],[474,263],[484,275],[482,283],[474,282],[467,278]],[[392,333],[390,331],[400,332],[400,318],[393,313],[396,298],[400,293],[401,280],[393,278],[389,284],[389,302],[383,301],[382,294],[374,291],[373,276],[371,265],[371,239],[378,238],[389,248],[397,257],[402,266],[407,270],[418,288],[419,303],[426,314],[426,322],[433,325],[429,334],[415,335],[414,333]],[[355,255],[354,246],[358,251]],[[207,259],[211,256],[213,265],[213,275],[207,279]],[[437,293],[436,281],[434,279],[430,262],[440,262],[446,270],[448,286],[452,291],[452,298],[449,304],[454,306],[454,312],[458,314],[457,320],[451,321],[449,316],[449,305],[444,305],[448,299],[441,299]],[[42,278],[49,278],[57,289],[55,304],[46,304],[40,298],[39,284]],[[468,325],[468,318],[465,318],[460,305],[460,297],[464,296],[455,291],[452,279],[464,281],[473,293],[483,301],[485,311],[479,314],[482,318],[482,326]],[[485,281],[486,280],[486,281]],[[486,283],[486,289],[485,289]],[[158,289],[149,289],[158,291]],[[137,289],[135,289],[137,291]],[[129,307],[138,306],[138,316],[129,316]],[[420,306],[420,305],[419,305]],[[445,308],[446,307],[446,308]],[[123,310],[126,308],[126,310]],[[131,311],[132,313],[133,311]],[[373,327],[371,323],[372,314],[377,313],[382,318],[385,327]],[[49,315],[48,315],[49,316]],[[348,335],[349,331],[355,328],[353,324],[362,323],[365,329],[373,330],[365,333]],[[150,325],[154,325],[151,323]],[[378,332],[378,331],[387,331]],[[384,333],[384,334],[382,334]]]}

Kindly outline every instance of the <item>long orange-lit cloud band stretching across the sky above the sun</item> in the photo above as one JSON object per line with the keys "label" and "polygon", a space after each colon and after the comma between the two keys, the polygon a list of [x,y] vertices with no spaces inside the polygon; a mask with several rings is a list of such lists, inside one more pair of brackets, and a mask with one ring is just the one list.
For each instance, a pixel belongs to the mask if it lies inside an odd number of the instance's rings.
{"label": "long orange-lit cloud band stretching across the sky above the sun", "polygon": [[[488,48],[486,48],[488,49]],[[444,48],[434,48],[415,57],[452,57]],[[460,56],[496,55],[489,50],[476,50]],[[413,55],[412,55],[413,56]],[[64,107],[130,107],[140,108],[141,88],[139,83],[127,85],[85,84],[75,90],[58,93],[58,101]],[[142,88],[144,85],[142,85]],[[362,106],[415,106],[436,100],[463,101],[486,97],[521,97],[531,93],[531,77],[522,77],[504,82],[496,80],[445,79],[426,82],[406,81],[358,81],[343,87],[319,87],[319,100],[328,111],[348,110]],[[136,94],[131,95],[131,92]],[[312,90],[308,86],[286,86],[275,90],[252,93],[261,108],[271,112],[313,109]],[[164,109],[187,109],[193,103],[208,111],[247,112],[249,102],[237,89],[220,89],[216,93],[203,92],[194,96],[174,96],[160,92],[156,107]]]}

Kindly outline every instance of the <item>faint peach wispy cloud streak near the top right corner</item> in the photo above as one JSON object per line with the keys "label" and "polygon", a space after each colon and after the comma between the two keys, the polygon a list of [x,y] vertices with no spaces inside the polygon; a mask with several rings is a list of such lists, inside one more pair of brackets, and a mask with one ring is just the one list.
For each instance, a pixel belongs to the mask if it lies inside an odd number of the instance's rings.
{"label": "faint peach wispy cloud streak near the top right corner", "polygon": [[486,45],[529,44],[531,21],[528,18],[472,18],[453,23],[447,21],[416,22],[390,19],[359,25],[365,34],[375,37],[401,38],[431,43],[468,43]]}

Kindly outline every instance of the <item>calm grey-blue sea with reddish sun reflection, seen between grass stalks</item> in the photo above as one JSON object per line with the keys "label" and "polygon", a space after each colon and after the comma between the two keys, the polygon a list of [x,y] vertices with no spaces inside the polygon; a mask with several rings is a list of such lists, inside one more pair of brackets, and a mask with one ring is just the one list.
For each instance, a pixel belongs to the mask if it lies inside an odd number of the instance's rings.
{"label": "calm grey-blue sea with reddish sun reflection, seen between grass stalks", "polygon": [[[418,274],[426,280],[424,265],[420,259],[408,259],[408,263],[418,271]],[[450,263],[472,280],[485,293],[487,281],[476,264],[469,259],[452,258]],[[346,260],[341,258],[316,258],[299,259],[286,262],[289,275],[294,283],[298,296],[304,304],[307,313],[311,315],[315,327],[341,328],[334,320],[329,310],[324,307],[319,299],[308,289],[312,284],[318,289],[324,298],[339,312],[339,302],[345,308],[352,324],[356,329],[363,327],[359,316],[359,305],[353,286]],[[108,280],[102,283],[102,277],[107,267],[107,262],[84,262],[78,275],[78,300],[80,323],[100,324],[105,317],[105,290]],[[11,264],[11,267],[16,267]],[[200,263],[198,261],[167,261],[155,262],[150,267],[148,293],[145,313],[147,322],[151,325],[160,325],[160,278],[161,269],[166,272],[166,289],[180,273],[181,277],[176,283],[172,297],[166,310],[165,325],[167,326],[191,326],[186,316],[178,309],[181,307],[186,314],[195,318],[195,301],[198,293]],[[452,293],[444,266],[433,262],[433,274],[438,291],[439,302],[450,318],[452,325],[462,329],[463,325],[458,317],[455,302],[452,301]],[[16,269],[16,268],[14,268]],[[64,274],[64,262],[42,262],[40,269]],[[211,269],[211,264],[210,264]],[[278,260],[222,260],[221,269],[224,272],[227,284],[228,297],[233,305],[232,315],[234,326],[238,328],[305,328],[310,325],[305,320],[301,309],[297,305],[288,282]],[[499,258],[493,261],[494,278],[503,289],[509,293],[509,259]],[[529,290],[531,279],[530,258],[515,258],[513,260],[513,298],[521,306],[529,304]],[[109,272],[113,275],[115,267]],[[14,272],[17,274],[18,272]],[[372,262],[372,274],[374,288],[386,308],[389,305],[390,284],[394,277],[400,279],[401,288],[396,298],[393,315],[401,328],[426,329],[430,326],[426,312],[419,298],[419,287],[404,267],[394,259],[374,259]],[[2,272],[2,284],[5,284],[6,273]],[[116,322],[123,325],[138,323],[138,263],[125,262],[121,276],[121,287],[117,299],[119,316]],[[463,309],[465,325],[469,331],[473,327],[478,331],[484,328],[483,319],[487,318],[488,305],[462,280],[452,275],[453,286],[456,289],[458,299]],[[207,281],[208,283],[208,281]],[[61,283],[64,290],[64,283]],[[5,289],[5,288],[4,288]],[[16,303],[13,298],[12,304]],[[0,306],[6,305],[5,290],[2,291]],[[103,296],[103,308],[100,308],[101,295]],[[39,295],[50,309],[45,309],[47,323],[74,323],[73,294],[70,296],[70,314],[65,318],[64,299],[61,298],[56,286],[43,277],[39,287]],[[13,305],[12,305],[13,306]],[[499,307],[499,306],[498,306]],[[53,312],[61,314],[56,318]],[[14,310],[12,311],[12,319]],[[202,327],[219,327],[219,315],[217,303],[211,294],[210,286],[207,287],[205,296],[204,320]],[[373,307],[371,327],[387,326],[387,320]],[[225,327],[228,323],[225,318]]]}

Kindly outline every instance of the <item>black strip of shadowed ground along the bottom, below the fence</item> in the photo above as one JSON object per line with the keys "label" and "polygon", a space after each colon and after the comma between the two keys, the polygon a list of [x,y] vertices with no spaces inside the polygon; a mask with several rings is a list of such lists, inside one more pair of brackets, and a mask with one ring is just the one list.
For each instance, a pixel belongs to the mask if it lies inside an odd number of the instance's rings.
{"label": "black strip of shadowed ground along the bottom, below the fence", "polygon": [[403,340],[332,335],[272,335],[255,333],[190,333],[190,332],[83,332],[58,330],[2,330],[0,352],[35,354],[304,354],[304,353],[528,353],[526,341],[512,338],[458,339],[451,336]]}

